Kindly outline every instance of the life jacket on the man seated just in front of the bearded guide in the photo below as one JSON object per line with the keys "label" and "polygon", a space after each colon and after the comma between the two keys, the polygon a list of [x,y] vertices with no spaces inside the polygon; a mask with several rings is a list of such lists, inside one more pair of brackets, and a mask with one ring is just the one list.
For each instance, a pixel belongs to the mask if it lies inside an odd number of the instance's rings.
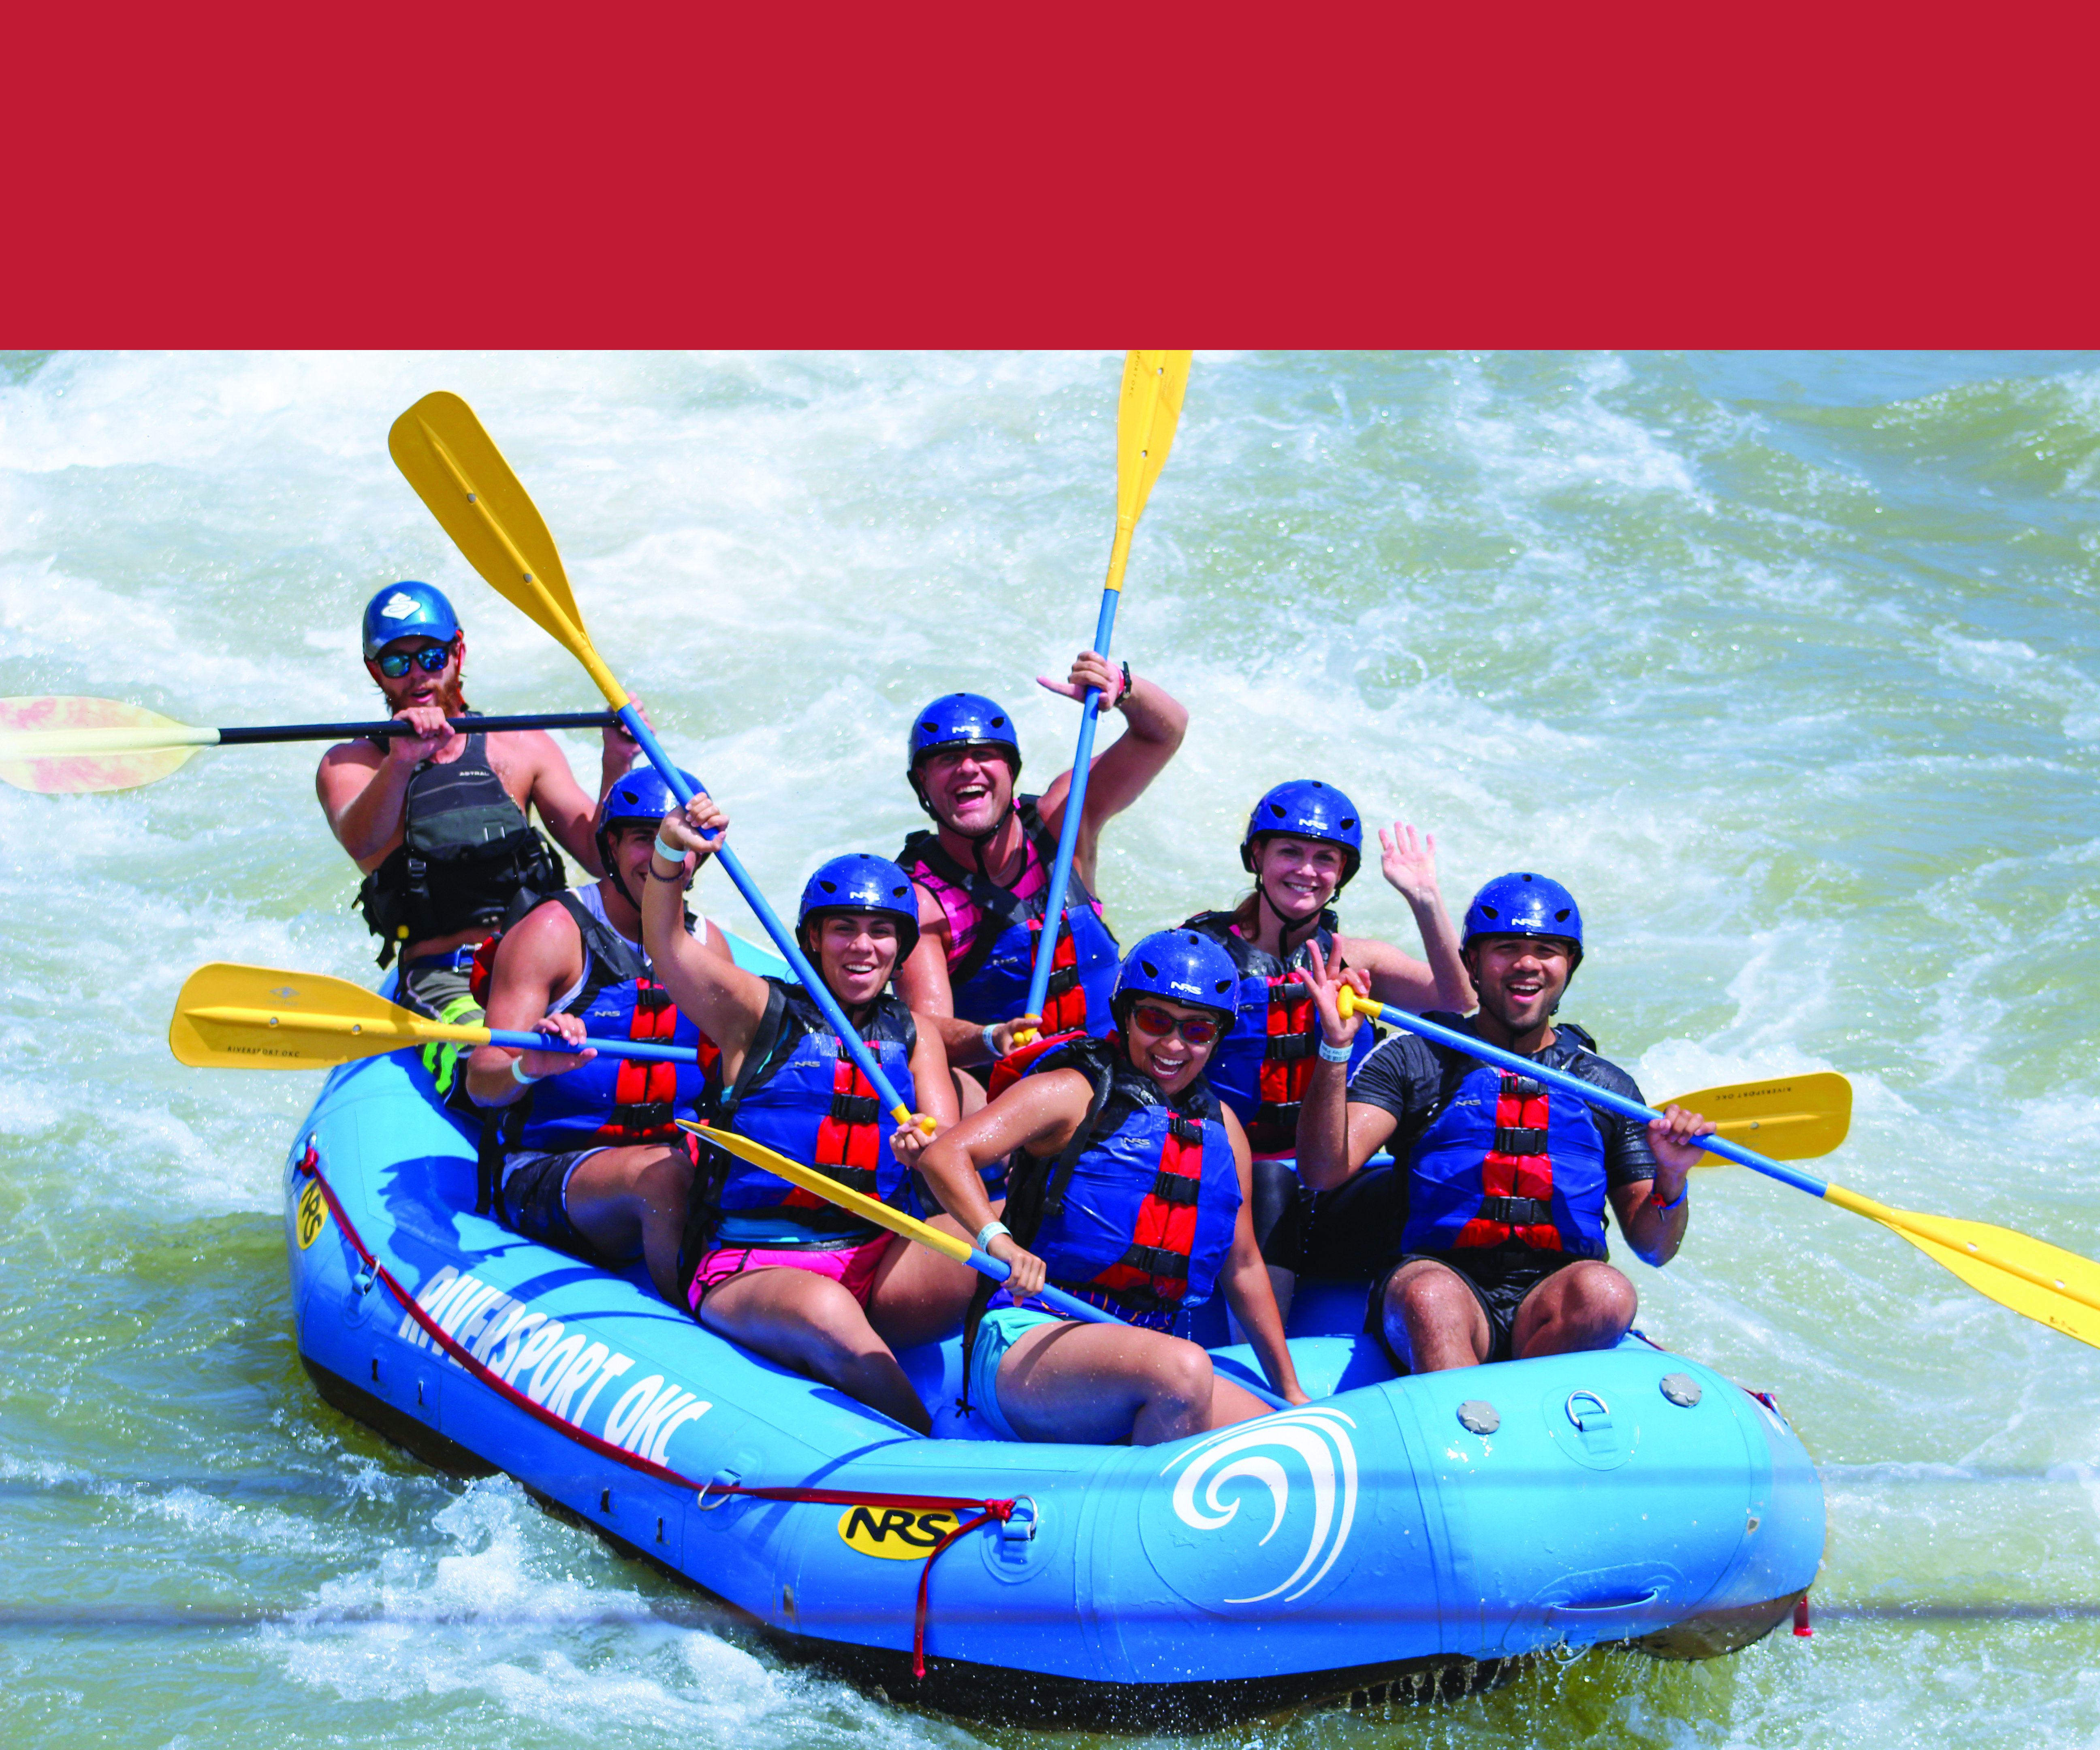
{"label": "life jacket on the man seated just in front of the bearded guide", "polygon": [[594,1057],[575,1069],[536,1082],[510,1105],[491,1107],[483,1118],[483,1200],[500,1200],[504,1155],[529,1149],[561,1153],[634,1143],[685,1145],[676,1120],[697,1118],[708,1092],[708,1076],[720,1057],[714,1042],[678,1008],[651,977],[649,956],[575,893],[544,901],[561,905],[584,939],[584,981],[552,1013],[578,1015],[584,1029],[601,1040],[647,1040],[691,1046],[699,1063],[645,1063],[626,1057]]}

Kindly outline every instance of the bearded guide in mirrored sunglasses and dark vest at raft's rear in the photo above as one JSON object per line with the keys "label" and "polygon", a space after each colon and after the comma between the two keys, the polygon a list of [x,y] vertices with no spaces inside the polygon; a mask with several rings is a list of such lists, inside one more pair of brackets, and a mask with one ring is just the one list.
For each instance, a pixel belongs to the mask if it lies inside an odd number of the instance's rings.
{"label": "bearded guide in mirrored sunglasses and dark vest at raft's rear", "polygon": [[[365,605],[365,672],[412,733],[338,742],[321,754],[315,790],[342,849],[363,872],[357,905],[380,937],[380,966],[401,958],[399,998],[439,1021],[477,1025],[468,989],[475,943],[536,899],[565,889],[546,830],[592,876],[596,805],[544,729],[454,733],[466,706],[466,634],[452,603],[418,582]],[[626,729],[605,731],[603,794],[634,763]],[[449,1092],[458,1048],[426,1046]]]}

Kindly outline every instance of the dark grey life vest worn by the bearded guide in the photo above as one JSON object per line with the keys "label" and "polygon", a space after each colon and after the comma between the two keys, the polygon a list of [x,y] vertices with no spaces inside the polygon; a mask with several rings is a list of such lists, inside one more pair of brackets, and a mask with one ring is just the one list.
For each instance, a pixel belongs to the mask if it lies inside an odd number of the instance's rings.
{"label": "dark grey life vest worn by the bearded guide", "polygon": [[407,941],[496,924],[521,893],[548,897],[569,884],[554,847],[489,767],[487,735],[468,735],[447,765],[418,765],[403,815],[401,842],[363,878],[355,901],[380,937],[382,966]]}

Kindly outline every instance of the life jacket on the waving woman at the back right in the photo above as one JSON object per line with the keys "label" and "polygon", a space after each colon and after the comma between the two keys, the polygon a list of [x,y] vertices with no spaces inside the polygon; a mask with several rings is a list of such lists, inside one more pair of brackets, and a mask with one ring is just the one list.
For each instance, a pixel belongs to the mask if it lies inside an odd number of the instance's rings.
{"label": "life jacket on the waving woman at the back right", "polygon": [[[1334,912],[1321,912],[1308,941],[1277,960],[1233,929],[1231,912],[1197,912],[1182,929],[1216,941],[1239,968],[1233,1029],[1218,1040],[1203,1078],[1247,1128],[1247,1147],[1258,1155],[1287,1155],[1298,1149],[1298,1109],[1312,1086],[1319,1061],[1319,1008],[1310,996],[1292,994],[1306,966],[1306,945],[1319,943],[1334,964]],[[1378,1034],[1357,1027],[1348,1071],[1371,1055]]]}

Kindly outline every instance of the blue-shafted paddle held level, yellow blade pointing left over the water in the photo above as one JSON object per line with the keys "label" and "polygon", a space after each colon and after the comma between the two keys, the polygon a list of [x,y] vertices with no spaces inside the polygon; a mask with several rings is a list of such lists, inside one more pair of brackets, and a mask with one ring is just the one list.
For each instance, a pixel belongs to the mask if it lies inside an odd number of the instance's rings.
{"label": "blue-shafted paddle held level, yellow blade pointing left over the water", "polygon": [[697,1063],[691,1046],[584,1040],[546,1034],[449,1027],[388,1002],[378,992],[321,973],[279,966],[197,966],[174,998],[168,1050],[193,1069],[332,1069],[359,1057],[424,1044],[502,1044],[517,1050],[584,1050],[651,1063]]}

